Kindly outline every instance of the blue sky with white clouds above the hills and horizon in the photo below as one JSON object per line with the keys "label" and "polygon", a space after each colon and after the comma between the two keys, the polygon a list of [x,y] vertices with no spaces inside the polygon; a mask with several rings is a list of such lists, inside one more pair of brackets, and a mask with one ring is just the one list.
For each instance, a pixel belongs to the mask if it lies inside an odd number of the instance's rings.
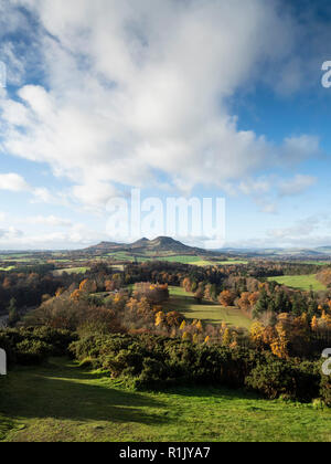
{"label": "blue sky with white clouds above the hills and horizon", "polygon": [[331,245],[330,25],[328,0],[0,0],[0,250],[120,241],[132,188],[225,198],[225,246]]}

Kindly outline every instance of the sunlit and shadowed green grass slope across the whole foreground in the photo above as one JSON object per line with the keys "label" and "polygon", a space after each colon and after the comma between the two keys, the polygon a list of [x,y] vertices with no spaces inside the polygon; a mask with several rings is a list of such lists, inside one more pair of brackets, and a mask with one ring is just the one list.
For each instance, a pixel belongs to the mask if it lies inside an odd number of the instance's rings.
{"label": "sunlit and shadowed green grass slope across the whole foreground", "polygon": [[331,441],[331,410],[207,388],[138,393],[64,359],[1,383],[0,441]]}

